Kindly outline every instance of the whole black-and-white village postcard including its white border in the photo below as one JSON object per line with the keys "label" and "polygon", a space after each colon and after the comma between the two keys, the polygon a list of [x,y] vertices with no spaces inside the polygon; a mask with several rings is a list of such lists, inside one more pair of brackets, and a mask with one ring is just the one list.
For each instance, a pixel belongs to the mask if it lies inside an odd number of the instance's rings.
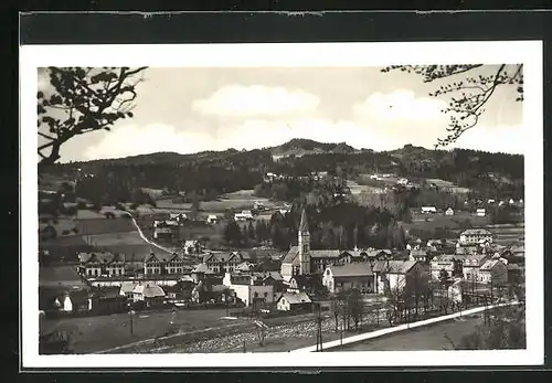
{"label": "whole black-and-white village postcard including its white border", "polygon": [[23,363],[542,362],[541,51],[22,46]]}

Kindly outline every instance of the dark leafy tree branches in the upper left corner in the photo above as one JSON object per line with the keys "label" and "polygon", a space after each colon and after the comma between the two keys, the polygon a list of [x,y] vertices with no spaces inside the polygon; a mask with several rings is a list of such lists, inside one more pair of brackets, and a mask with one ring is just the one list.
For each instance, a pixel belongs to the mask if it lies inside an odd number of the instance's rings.
{"label": "dark leafy tree branches in the upper left corner", "polygon": [[49,75],[49,89],[38,98],[39,169],[60,159],[62,145],[77,135],[109,130],[115,121],[132,117],[138,76],[146,67],[55,67]]}

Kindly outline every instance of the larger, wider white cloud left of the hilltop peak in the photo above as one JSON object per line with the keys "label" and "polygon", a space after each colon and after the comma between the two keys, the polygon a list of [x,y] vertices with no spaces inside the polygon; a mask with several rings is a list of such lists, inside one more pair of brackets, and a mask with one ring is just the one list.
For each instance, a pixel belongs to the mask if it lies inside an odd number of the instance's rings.
{"label": "larger, wider white cloud left of the hilltop peak", "polygon": [[225,117],[280,116],[315,111],[320,99],[301,89],[263,85],[223,86],[208,98],[192,103],[192,109],[204,115]]}

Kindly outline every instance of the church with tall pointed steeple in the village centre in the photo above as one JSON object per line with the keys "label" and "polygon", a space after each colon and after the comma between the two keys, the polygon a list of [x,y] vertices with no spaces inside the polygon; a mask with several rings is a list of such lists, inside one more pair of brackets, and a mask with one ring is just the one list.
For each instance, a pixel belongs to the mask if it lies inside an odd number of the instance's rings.
{"label": "church with tall pointed steeple in the village centre", "polygon": [[298,245],[291,246],[282,262],[280,274],[285,281],[297,275],[321,274],[327,266],[339,263],[342,253],[339,249],[310,249],[310,232],[305,209],[297,235]]}

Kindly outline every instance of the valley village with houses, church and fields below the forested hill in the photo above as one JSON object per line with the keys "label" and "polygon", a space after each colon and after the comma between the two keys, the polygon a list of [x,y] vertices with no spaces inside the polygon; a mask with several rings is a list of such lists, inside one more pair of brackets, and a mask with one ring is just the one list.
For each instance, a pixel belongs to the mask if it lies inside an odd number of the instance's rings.
{"label": "valley village with houses, church and fields below the forested hill", "polygon": [[[278,175],[267,173],[264,181],[272,182],[275,178]],[[404,178],[395,182],[396,185],[388,185],[382,193],[417,187]],[[354,196],[349,188],[333,193],[338,200],[351,195]],[[129,233],[123,233],[121,237],[123,240],[114,246],[98,245],[107,234],[86,235],[88,223],[81,225],[84,230],[78,234],[89,240],[94,251],[77,252],[71,260],[45,266],[63,269],[65,276],[56,275],[41,283],[44,352],[60,352],[60,348],[66,350],[70,343],[78,342],[75,333],[81,330],[75,330],[79,326],[75,323],[84,320],[88,327],[104,322],[102,331],[119,326],[125,336],[114,337],[106,344],[96,338],[88,345],[85,342],[81,352],[109,352],[106,351],[109,349],[123,352],[127,347],[139,352],[135,343],[148,338],[151,341],[146,347],[148,352],[229,349],[242,352],[253,347],[245,340],[242,342],[246,333],[258,334],[250,339],[255,349],[270,351],[264,338],[289,338],[291,330],[278,333],[286,326],[288,329],[297,328],[298,323],[307,326],[309,330],[302,334],[301,344],[310,345],[318,342],[318,332],[342,338],[343,331],[368,331],[374,326],[395,326],[484,304],[523,299],[523,224],[490,224],[486,211],[498,205],[522,209],[521,200],[476,201],[469,213],[450,206],[412,209],[411,230],[401,248],[361,247],[357,243],[350,248],[311,248],[312,220],[305,205],[254,195],[242,202],[232,214],[216,211],[198,214],[192,206],[191,211],[163,209],[140,216],[136,209],[119,206],[120,216],[109,211],[104,212],[104,217],[88,220],[129,226],[128,232],[132,231],[140,242],[140,252],[120,246]],[[224,225],[227,232],[235,224],[238,232],[251,233],[275,216],[293,214],[300,216],[300,221],[295,227],[297,238],[287,251],[276,248],[272,238],[262,238],[256,246],[242,243],[221,247],[213,244],[209,232],[185,237],[190,232],[183,230],[191,224]],[[421,238],[412,234],[416,225],[455,216],[484,224],[457,230],[456,237]],[[49,258],[50,252],[41,249],[40,259]],[[151,330],[139,336],[138,329],[144,325],[138,322],[148,320]],[[60,327],[70,330],[60,331]],[[211,329],[211,333],[191,336],[202,327]],[[235,339],[217,342],[223,334]],[[170,341],[182,337],[189,337],[185,342],[181,340],[187,344],[200,339],[211,343],[200,349],[182,349],[177,340]],[[285,348],[294,347],[283,342]]]}

